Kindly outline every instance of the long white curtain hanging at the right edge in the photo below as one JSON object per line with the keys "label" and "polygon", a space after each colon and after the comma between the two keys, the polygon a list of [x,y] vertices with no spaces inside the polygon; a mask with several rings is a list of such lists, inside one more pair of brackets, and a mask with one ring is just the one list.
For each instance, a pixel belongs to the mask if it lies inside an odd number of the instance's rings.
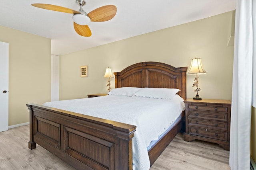
{"label": "long white curtain hanging at the right edge", "polygon": [[231,170],[250,170],[252,73],[256,46],[255,3],[256,0],[236,1],[229,160]]}

